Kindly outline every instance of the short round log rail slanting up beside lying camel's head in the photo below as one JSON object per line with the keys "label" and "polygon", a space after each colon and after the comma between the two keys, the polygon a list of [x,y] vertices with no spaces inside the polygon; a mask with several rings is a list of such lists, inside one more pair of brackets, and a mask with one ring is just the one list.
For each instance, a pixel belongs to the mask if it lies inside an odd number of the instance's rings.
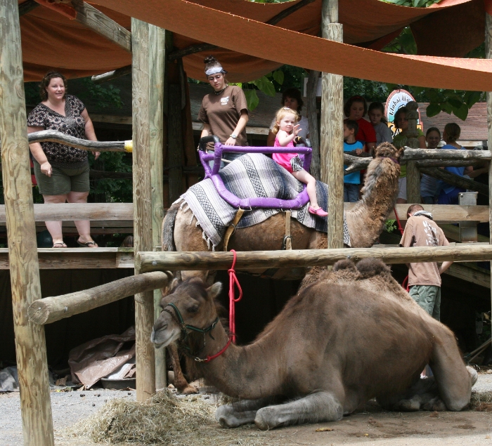
{"label": "short round log rail slanting up beside lying camel's head", "polygon": [[136,293],[165,287],[167,282],[167,274],[160,271],[124,277],[84,291],[39,299],[31,303],[27,313],[34,324],[51,324]]}

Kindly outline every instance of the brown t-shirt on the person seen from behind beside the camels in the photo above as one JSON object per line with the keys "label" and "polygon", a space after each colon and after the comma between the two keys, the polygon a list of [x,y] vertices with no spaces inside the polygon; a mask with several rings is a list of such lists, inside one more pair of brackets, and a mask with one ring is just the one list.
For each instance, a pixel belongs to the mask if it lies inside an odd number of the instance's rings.
{"label": "brown t-shirt on the person seen from behind beside the camels", "polygon": [[[434,221],[425,216],[408,218],[400,245],[402,247],[446,247],[449,242]],[[441,275],[436,262],[410,263],[408,285],[441,286]]]}

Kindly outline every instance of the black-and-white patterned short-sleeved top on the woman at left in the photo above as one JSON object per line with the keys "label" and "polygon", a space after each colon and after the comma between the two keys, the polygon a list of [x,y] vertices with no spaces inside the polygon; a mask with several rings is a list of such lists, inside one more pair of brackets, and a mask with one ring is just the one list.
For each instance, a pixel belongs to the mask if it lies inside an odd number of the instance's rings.
{"label": "black-and-white patterned short-sleeved top on the woman at left", "polygon": [[[65,135],[86,139],[85,121],[80,114],[85,105],[72,95],[65,95],[65,116],[38,104],[27,117],[27,125],[42,127],[44,130],[57,130]],[[77,169],[88,162],[86,150],[76,149],[60,143],[41,143],[46,158],[51,165]]]}

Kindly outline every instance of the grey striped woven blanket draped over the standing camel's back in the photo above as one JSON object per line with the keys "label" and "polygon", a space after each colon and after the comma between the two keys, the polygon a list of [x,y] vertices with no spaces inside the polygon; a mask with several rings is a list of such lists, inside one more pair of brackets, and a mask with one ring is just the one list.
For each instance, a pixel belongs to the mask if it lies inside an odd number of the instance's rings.
{"label": "grey striped woven blanket draped over the standing camel's back", "polygon": [[[228,164],[220,171],[220,176],[226,188],[240,198],[247,197],[276,197],[293,199],[302,192],[303,185],[297,181],[282,166],[271,158],[261,154],[247,154]],[[328,207],[328,186],[316,182],[318,204]],[[236,209],[224,201],[216,191],[209,178],[200,181],[189,188],[178,202],[181,206],[187,204],[197,219],[197,224],[203,230],[207,244],[214,249],[224,237],[226,228],[233,221]],[[292,209],[292,217],[299,223],[327,232],[327,218],[313,216],[308,212],[309,203],[301,209]],[[239,221],[237,228],[247,228],[265,221],[268,217],[278,214],[280,209],[252,209],[247,211]],[[350,246],[347,225],[344,224],[344,243]]]}

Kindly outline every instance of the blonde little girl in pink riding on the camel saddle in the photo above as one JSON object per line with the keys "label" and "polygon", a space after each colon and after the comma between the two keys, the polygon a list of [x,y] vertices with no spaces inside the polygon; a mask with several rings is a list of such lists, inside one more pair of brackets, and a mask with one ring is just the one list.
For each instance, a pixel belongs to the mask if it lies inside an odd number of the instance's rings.
{"label": "blonde little girl in pink riding on the camel saddle", "polygon": [[[299,125],[296,124],[297,120],[298,115],[294,110],[288,107],[283,107],[278,110],[276,123],[272,129],[272,132],[276,134],[273,147],[294,148],[294,138],[299,134],[299,131],[301,131]],[[318,199],[316,197],[316,179],[302,168],[302,162],[299,155],[297,155],[297,153],[274,153],[272,157],[274,161],[280,164],[280,166],[292,173],[294,178],[306,185],[309,201],[311,202],[309,213],[320,217],[327,216],[328,212],[323,211],[323,209],[318,206]]]}

